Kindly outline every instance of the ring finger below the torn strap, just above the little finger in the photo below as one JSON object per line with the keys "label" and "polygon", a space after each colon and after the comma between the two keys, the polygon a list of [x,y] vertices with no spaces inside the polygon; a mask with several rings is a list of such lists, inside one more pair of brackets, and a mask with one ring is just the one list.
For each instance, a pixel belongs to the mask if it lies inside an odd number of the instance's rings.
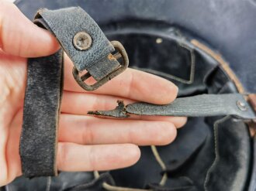
{"label": "ring finger below the torn strap, just above the little finger", "polygon": [[82,145],[168,145],[176,135],[175,125],[168,121],[106,120],[62,114],[59,141]]}

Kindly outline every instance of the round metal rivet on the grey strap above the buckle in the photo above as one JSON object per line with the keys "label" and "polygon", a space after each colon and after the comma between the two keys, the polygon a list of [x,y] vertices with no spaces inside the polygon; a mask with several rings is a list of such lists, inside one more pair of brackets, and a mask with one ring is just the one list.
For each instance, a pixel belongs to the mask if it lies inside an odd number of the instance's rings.
{"label": "round metal rivet on the grey strap above the buckle", "polygon": [[76,49],[85,50],[91,47],[92,37],[87,32],[78,32],[73,39],[73,44]]}

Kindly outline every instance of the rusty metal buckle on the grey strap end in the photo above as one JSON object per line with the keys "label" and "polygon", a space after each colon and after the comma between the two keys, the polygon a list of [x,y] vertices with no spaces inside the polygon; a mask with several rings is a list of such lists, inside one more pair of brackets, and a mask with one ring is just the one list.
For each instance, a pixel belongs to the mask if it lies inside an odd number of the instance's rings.
{"label": "rusty metal buckle on the grey strap end", "polygon": [[79,86],[81,86],[83,89],[88,91],[96,90],[99,87],[101,87],[103,84],[106,84],[112,78],[118,76],[128,67],[129,60],[123,45],[118,41],[111,41],[111,43],[112,43],[112,46],[114,46],[114,48],[118,51],[118,53],[114,55],[111,54],[111,56],[114,56],[116,60],[118,60],[119,58],[123,59],[123,62],[120,63],[120,67],[112,71],[112,73],[109,73],[106,77],[103,77],[102,80],[99,80],[98,82],[92,85],[85,84],[85,80],[87,80],[89,77],[92,77],[90,73],[85,73],[80,77],[78,69],[76,67],[73,67],[74,80],[76,80]]}

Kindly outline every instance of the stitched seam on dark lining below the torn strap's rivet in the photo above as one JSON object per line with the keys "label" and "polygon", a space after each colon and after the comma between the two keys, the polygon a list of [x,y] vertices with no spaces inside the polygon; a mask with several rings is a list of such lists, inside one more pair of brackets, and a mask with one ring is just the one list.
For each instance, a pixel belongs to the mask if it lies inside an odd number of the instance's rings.
{"label": "stitched seam on dark lining below the torn strap's rivet", "polygon": [[214,136],[214,151],[215,151],[215,159],[213,160],[213,164],[209,167],[207,173],[206,173],[206,179],[204,182],[204,189],[206,191],[208,191],[208,183],[209,183],[209,174],[211,172],[213,172],[214,167],[216,166],[216,163],[219,161],[220,159],[220,155],[219,155],[219,143],[218,143],[218,139],[219,139],[219,124],[223,123],[224,121],[227,121],[230,118],[230,116],[226,116],[224,118],[221,118],[220,120],[217,120],[214,123],[214,128],[213,128],[213,136]]}

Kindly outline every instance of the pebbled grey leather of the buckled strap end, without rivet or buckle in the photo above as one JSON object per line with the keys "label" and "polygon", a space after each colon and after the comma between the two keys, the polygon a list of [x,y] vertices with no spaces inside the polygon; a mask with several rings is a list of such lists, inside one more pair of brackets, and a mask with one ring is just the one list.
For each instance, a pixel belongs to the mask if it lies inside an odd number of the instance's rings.
{"label": "pebbled grey leather of the buckled strap end, without rivet or buckle", "polygon": [[[101,61],[115,49],[97,23],[80,7],[54,11],[40,9],[35,19],[40,18],[47,23],[47,29],[57,37],[78,71],[88,70],[95,80],[101,80],[119,67],[117,61],[107,63],[104,62],[106,59]],[[73,38],[78,32],[87,32],[92,37],[90,48],[78,50],[74,47]]]}

